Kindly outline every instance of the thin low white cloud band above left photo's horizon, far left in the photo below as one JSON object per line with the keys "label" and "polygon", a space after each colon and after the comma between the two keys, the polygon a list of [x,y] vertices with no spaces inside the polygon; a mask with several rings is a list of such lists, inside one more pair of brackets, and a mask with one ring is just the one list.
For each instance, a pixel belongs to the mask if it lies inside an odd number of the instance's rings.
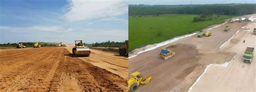
{"label": "thin low white cloud band above left photo's horizon, far left", "polygon": [[0,30],[8,31],[45,31],[45,32],[69,32],[73,31],[72,28],[64,28],[62,26],[33,26],[33,27],[7,27],[0,26]]}

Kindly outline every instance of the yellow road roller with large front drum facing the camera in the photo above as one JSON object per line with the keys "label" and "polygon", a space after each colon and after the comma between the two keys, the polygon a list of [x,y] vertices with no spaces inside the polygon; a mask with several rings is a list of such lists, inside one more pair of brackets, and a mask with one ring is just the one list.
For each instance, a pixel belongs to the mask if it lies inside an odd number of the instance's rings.
{"label": "yellow road roller with large front drum facing the camera", "polygon": [[89,57],[91,50],[86,47],[82,40],[75,41],[75,47],[72,49],[72,53],[74,56],[85,56]]}

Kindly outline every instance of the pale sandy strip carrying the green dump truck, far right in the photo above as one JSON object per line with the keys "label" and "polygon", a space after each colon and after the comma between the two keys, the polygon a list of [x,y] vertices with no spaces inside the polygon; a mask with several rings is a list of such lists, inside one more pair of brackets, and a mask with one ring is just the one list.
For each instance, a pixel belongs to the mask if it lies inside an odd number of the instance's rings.
{"label": "pale sandy strip carrying the green dump truck, far right", "polygon": [[256,91],[255,51],[251,64],[244,63],[242,57],[246,47],[256,47],[256,37],[253,35],[256,22],[246,28],[250,30],[242,30],[221,49],[238,53],[234,60],[227,67],[210,66],[191,91]]}

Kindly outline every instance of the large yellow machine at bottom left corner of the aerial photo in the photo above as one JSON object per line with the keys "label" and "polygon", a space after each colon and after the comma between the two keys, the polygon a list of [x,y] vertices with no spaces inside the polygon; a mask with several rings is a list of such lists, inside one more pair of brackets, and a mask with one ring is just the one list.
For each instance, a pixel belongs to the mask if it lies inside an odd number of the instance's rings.
{"label": "large yellow machine at bottom left corner of the aerial photo", "polygon": [[147,84],[151,80],[151,76],[143,80],[142,76],[139,76],[139,72],[134,72],[131,74],[130,79],[127,81],[128,88],[131,92],[134,92],[140,84]]}

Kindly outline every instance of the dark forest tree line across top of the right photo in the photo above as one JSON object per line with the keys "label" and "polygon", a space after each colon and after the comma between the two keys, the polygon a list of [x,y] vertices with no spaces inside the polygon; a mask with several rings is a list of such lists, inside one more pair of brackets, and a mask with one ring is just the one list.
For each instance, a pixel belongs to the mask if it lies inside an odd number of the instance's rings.
{"label": "dark forest tree line across top of the right photo", "polygon": [[211,5],[129,5],[129,16],[158,16],[159,14],[244,15],[256,13],[256,4]]}

